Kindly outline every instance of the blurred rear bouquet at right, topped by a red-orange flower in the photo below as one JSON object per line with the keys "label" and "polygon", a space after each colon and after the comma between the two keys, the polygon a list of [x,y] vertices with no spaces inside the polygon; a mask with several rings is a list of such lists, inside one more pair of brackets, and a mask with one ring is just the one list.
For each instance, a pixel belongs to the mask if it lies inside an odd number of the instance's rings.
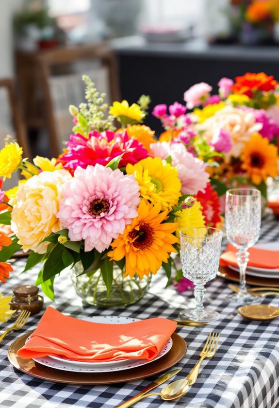
{"label": "blurred rear bouquet at right, topped by a red-orange flower", "polygon": [[267,178],[278,175],[278,82],[261,72],[235,81],[222,78],[218,86],[215,95],[206,83],[188,89],[184,100],[192,112],[183,120],[170,120],[166,106],[157,105],[153,114],[166,129],[159,140],[182,144],[202,159],[211,176],[208,188],[218,195],[229,187],[252,185],[266,199]]}

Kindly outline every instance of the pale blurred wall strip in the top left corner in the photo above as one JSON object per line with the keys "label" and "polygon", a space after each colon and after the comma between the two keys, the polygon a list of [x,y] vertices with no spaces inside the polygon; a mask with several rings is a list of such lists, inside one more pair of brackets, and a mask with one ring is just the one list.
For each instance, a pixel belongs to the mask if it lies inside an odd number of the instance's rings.
{"label": "pale blurred wall strip in the top left corner", "polygon": [[23,1],[0,1],[0,78],[10,77],[14,74],[12,16],[22,6]]}

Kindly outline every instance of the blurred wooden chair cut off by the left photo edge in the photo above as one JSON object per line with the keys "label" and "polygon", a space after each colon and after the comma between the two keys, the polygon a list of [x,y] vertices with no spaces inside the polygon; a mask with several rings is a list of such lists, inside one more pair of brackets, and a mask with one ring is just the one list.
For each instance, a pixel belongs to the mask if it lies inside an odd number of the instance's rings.
{"label": "blurred wooden chair cut off by the left photo edge", "polygon": [[0,119],[1,148],[4,145],[4,138],[7,136],[7,134],[11,134],[11,136],[16,138],[19,145],[23,148],[24,157],[31,158],[29,142],[21,119],[19,104],[16,97],[15,81],[12,78],[0,79],[0,89],[6,90],[6,105],[8,113],[8,118],[5,118],[5,121],[4,118]]}

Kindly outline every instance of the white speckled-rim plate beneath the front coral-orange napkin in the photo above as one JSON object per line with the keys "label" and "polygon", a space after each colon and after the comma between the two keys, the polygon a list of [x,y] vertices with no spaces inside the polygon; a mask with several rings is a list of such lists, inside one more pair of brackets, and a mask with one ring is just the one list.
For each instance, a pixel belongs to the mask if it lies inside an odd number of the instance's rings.
{"label": "white speckled-rim plate beneath the front coral-orange napkin", "polygon": [[[107,324],[123,324],[123,323],[131,323],[139,321],[140,319],[134,319],[129,317],[120,317],[120,316],[92,316],[90,318],[84,318],[82,320],[94,322],[94,323],[107,323]],[[28,339],[26,340],[26,342]],[[67,360],[61,357],[38,357],[33,358],[34,361],[43,364],[47,367],[56,368],[58,370],[64,371],[73,371],[76,373],[108,373],[113,371],[120,371],[120,370],[128,370],[134,367],[142,366],[152,361],[157,360],[158,358],[163,357],[172,347],[172,339],[170,338],[166,344],[164,345],[161,352],[158,354],[157,357],[153,358],[152,360],[145,360],[145,359],[126,359],[120,361],[110,361],[105,362],[105,364],[101,364],[99,362],[81,362],[81,361],[72,361]],[[112,364],[113,363],[113,364]]]}

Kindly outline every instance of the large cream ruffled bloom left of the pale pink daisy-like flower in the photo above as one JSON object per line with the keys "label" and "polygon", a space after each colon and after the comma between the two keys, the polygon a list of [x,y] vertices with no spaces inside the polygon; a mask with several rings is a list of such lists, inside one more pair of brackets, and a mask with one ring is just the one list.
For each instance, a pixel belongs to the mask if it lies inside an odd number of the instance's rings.
{"label": "large cream ruffled bloom left of the pale pink daisy-like flower", "polygon": [[19,186],[11,225],[24,252],[45,253],[49,242],[39,242],[61,229],[56,218],[60,190],[70,178],[66,170],[43,171]]}

